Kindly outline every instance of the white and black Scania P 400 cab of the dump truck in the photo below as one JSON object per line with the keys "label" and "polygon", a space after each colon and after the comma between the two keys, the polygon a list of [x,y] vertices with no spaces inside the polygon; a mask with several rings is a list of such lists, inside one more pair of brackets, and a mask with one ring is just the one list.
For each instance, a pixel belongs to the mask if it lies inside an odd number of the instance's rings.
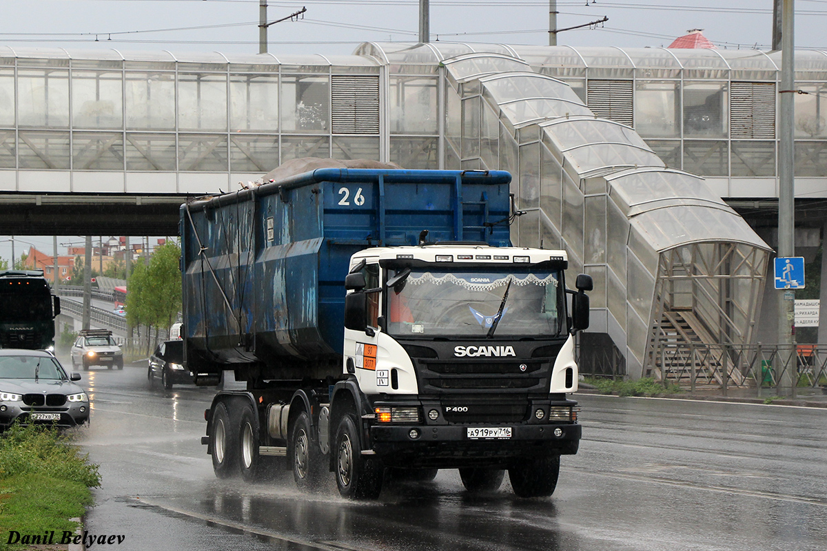
{"label": "white and black Scania P 400 cab of the dump truck", "polygon": [[508,469],[515,492],[553,492],[581,438],[566,393],[590,290],[581,276],[566,293],[566,265],[562,250],[485,244],[355,254],[342,369],[366,401],[363,448],[385,467],[460,468],[466,487]]}

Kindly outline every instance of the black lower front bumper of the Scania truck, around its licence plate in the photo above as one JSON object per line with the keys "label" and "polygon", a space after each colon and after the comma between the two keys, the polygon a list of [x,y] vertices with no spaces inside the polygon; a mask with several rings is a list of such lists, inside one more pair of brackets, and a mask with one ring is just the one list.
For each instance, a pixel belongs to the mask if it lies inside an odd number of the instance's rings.
{"label": "black lower front bumper of the Scania truck, around its licence plate", "polygon": [[371,425],[370,452],[409,468],[507,468],[523,458],[576,454],[581,425],[510,425],[511,437],[470,439],[467,425]]}

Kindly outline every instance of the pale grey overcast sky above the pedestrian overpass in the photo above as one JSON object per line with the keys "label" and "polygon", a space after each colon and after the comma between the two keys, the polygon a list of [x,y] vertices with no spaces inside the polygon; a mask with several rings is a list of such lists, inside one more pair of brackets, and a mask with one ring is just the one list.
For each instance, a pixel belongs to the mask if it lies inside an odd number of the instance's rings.
{"label": "pale grey overcast sky above the pedestrian overpass", "polygon": [[[67,50],[258,52],[259,0],[0,0],[0,45]],[[796,47],[827,50],[827,0],[796,0]],[[547,45],[547,0],[430,0],[431,40]],[[350,55],[361,42],[416,41],[418,0],[269,2],[270,52]],[[691,29],[719,48],[768,50],[772,0],[557,0],[561,45],[667,46]],[[97,39],[97,41],[96,41]],[[104,237],[108,237],[105,235]],[[11,257],[0,236],[0,258]],[[50,237],[22,236],[51,254]],[[59,243],[79,241],[60,238]],[[19,242],[17,256],[29,245]],[[65,247],[59,245],[60,253]]]}

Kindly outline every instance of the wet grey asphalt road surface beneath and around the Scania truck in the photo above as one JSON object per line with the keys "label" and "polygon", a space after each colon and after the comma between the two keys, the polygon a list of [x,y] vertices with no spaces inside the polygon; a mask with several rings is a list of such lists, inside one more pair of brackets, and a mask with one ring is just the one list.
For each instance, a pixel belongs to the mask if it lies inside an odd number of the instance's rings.
{"label": "wet grey asphalt road surface beneath and around the Scania truck", "polygon": [[441,471],[352,502],[332,476],[313,493],[290,473],[216,479],[200,444],[213,389],[150,389],[129,366],[82,384],[80,444],[103,475],[86,530],[125,535],[119,551],[827,549],[825,409],[580,395],[581,451],[550,498],[518,499],[508,477],[470,496]]}

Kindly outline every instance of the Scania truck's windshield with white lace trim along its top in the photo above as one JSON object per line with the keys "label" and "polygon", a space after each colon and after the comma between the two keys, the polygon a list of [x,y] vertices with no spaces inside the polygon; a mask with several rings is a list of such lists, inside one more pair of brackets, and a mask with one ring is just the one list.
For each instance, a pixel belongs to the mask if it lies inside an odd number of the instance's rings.
{"label": "Scania truck's windshield with white lace trim along its top", "polygon": [[[393,276],[390,270],[389,277]],[[558,278],[557,271],[413,269],[403,284],[386,291],[388,333],[412,337],[557,335],[562,327]]]}

